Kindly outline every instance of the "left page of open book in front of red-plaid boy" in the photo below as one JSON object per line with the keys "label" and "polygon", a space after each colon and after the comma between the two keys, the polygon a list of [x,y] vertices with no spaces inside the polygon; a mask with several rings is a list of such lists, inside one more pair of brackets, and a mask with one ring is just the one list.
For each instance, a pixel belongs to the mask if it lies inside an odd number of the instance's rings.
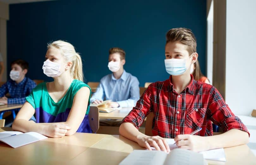
{"label": "left page of open book in front of red-plaid boy", "polygon": [[162,165],[167,153],[163,151],[132,151],[119,165]]}

